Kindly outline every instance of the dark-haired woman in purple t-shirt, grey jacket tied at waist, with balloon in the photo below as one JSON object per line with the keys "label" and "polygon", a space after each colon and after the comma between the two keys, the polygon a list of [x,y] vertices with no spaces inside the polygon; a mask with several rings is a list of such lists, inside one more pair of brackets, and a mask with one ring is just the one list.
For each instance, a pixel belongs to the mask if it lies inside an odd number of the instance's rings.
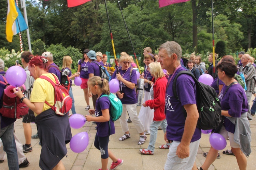
{"label": "dark-haired woman in purple t-shirt, grey jacket tied at waist, with balloon", "polygon": [[[216,67],[219,80],[224,86],[219,94],[224,123],[219,134],[226,140],[229,138],[231,150],[236,156],[239,169],[246,169],[246,156],[251,153],[251,130],[247,119],[248,103],[243,87],[234,79],[238,69],[231,62],[221,62]],[[213,134],[212,134],[213,135]],[[211,141],[211,149],[200,170],[207,170],[217,157],[218,150],[213,146],[222,145],[217,140]],[[224,147],[225,148],[225,147]]]}

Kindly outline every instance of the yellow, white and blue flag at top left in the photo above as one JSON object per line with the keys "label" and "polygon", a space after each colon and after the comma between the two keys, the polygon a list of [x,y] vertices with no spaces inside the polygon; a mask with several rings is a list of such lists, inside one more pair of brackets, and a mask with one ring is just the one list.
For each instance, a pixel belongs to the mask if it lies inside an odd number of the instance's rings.
{"label": "yellow, white and blue flag at top left", "polygon": [[11,43],[13,35],[28,29],[22,13],[14,0],[8,0],[8,11],[6,19],[6,39]]}

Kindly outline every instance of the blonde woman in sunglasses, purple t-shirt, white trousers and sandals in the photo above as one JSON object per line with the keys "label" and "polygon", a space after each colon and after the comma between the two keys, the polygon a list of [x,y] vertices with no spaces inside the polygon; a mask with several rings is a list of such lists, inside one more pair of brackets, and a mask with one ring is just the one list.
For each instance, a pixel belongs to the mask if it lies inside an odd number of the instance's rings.
{"label": "blonde woman in sunglasses, purple t-shirt, white trousers and sandals", "polygon": [[119,63],[121,64],[121,67],[118,68],[118,74],[115,70],[111,78],[119,80],[121,86],[121,89],[119,89],[116,94],[123,104],[123,112],[119,120],[124,135],[119,138],[119,141],[130,138],[128,123],[126,120],[127,111],[135,128],[140,133],[138,145],[142,145],[147,136],[144,134],[144,126],[137,116],[137,99],[135,92],[135,86],[137,85],[136,71],[131,70],[130,68],[131,58],[128,54],[121,56]]}

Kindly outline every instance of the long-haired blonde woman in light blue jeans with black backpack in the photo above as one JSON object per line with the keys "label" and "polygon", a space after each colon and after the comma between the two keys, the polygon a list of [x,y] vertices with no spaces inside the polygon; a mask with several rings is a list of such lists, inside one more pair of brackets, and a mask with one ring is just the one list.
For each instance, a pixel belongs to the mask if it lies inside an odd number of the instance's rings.
{"label": "long-haired blonde woman in light blue jeans with black backpack", "polygon": [[66,74],[68,74],[68,78],[70,81],[70,89],[69,89],[69,96],[72,98],[72,107],[71,107],[71,111],[72,114],[76,114],[75,112],[75,100],[74,100],[74,96],[73,96],[73,92],[72,92],[72,79],[74,77],[78,77],[79,76],[79,72],[75,73],[72,75],[71,73],[71,64],[72,64],[73,60],[70,56],[64,56],[63,60],[62,60],[62,68],[61,68],[61,72],[63,74],[63,71],[66,72]]}

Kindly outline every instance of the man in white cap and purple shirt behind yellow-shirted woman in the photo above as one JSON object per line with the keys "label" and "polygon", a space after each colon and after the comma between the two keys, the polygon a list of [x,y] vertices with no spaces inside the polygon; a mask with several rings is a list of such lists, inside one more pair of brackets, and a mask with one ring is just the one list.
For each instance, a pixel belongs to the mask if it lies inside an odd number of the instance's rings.
{"label": "man in white cap and purple shirt behind yellow-shirted woman", "polygon": [[54,73],[60,82],[61,72],[59,70],[59,67],[53,62],[53,54],[51,52],[46,51],[42,54],[42,57],[45,57],[48,60],[48,63],[46,63],[47,71],[49,73]]}

